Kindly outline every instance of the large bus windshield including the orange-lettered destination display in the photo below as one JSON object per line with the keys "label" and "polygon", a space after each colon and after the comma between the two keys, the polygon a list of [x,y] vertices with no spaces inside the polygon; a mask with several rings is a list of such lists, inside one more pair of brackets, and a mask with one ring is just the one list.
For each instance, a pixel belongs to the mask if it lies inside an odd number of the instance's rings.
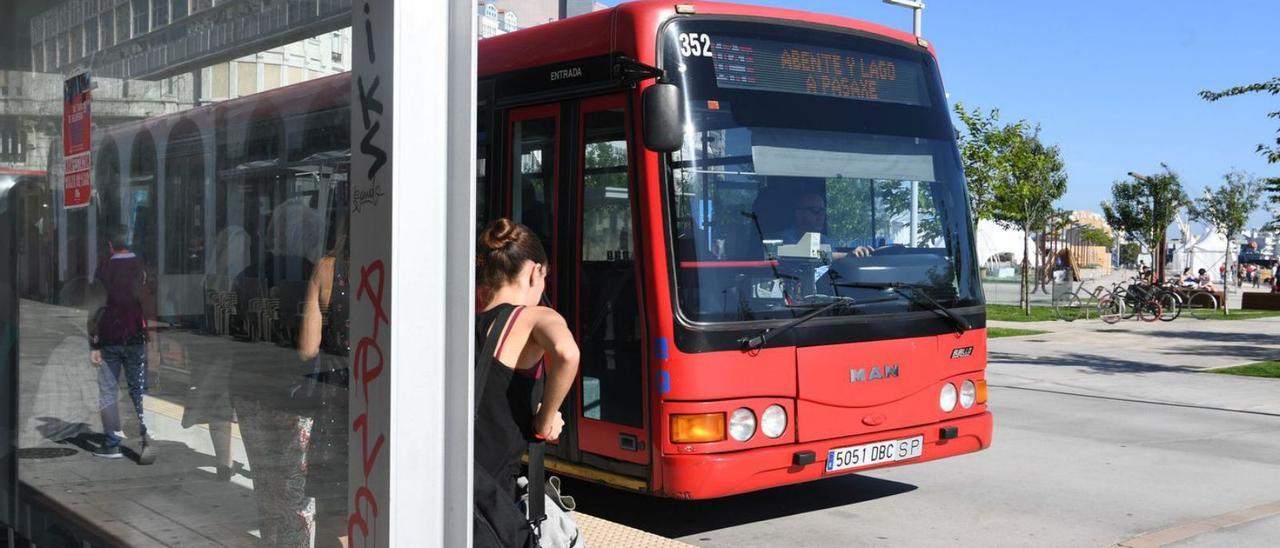
{"label": "large bus windshield including the orange-lettered destination display", "polygon": [[685,145],[667,161],[685,318],[980,303],[963,170],[923,49],[685,19],[664,29],[662,54],[686,100]]}

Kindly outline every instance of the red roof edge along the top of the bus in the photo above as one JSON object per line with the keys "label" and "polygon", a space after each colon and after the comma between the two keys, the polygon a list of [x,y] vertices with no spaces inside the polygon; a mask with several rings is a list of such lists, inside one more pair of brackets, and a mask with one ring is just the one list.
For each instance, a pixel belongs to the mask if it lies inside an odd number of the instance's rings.
{"label": "red roof edge along the top of the bus", "polygon": [[[600,12],[539,24],[480,40],[480,78],[509,70],[543,67],[620,51],[653,63],[658,26],[676,14],[676,5],[690,5],[698,15],[749,15],[850,28],[915,45],[915,36],[865,20],[782,8],[709,1],[639,0]],[[620,24],[622,23],[622,24]],[[628,41],[631,32],[644,31]],[[639,45],[640,51],[631,51]],[[933,46],[929,45],[933,54]]]}

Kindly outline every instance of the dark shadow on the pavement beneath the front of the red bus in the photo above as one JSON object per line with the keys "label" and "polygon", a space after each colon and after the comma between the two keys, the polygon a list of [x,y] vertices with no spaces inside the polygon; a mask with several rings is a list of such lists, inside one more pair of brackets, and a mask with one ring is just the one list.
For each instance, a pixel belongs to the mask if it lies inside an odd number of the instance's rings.
{"label": "dark shadow on the pavement beneath the front of the red bus", "polygon": [[677,501],[636,494],[563,478],[564,494],[585,513],[668,538],[874,501],[916,487],[878,478],[827,478],[709,501]]}

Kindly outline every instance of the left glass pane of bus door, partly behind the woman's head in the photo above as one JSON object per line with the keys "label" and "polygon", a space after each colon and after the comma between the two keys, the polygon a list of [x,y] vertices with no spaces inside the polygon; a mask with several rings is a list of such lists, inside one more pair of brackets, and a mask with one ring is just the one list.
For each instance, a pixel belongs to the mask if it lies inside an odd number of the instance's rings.
{"label": "left glass pane of bus door, partly behind the woman's head", "polygon": [[[556,140],[559,105],[511,111],[508,136],[511,187],[507,188],[511,219],[529,227],[543,242],[548,260],[556,264]],[[552,269],[554,277],[556,269]],[[547,283],[547,297],[556,302],[556,282]]]}

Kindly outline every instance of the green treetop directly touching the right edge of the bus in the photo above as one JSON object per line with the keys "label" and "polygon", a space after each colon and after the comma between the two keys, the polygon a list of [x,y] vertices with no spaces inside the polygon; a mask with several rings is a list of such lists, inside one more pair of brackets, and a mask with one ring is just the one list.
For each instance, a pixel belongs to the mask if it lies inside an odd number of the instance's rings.
{"label": "green treetop directly touching the right edge of the bus", "polygon": [[1027,131],[1027,122],[1001,125],[998,109],[987,113],[978,108],[965,110],[963,102],[956,102],[955,111],[965,127],[964,133],[957,132],[956,145],[960,147],[964,178],[969,183],[969,206],[977,224],[979,219],[995,219],[995,186],[1012,177],[1010,150]]}

